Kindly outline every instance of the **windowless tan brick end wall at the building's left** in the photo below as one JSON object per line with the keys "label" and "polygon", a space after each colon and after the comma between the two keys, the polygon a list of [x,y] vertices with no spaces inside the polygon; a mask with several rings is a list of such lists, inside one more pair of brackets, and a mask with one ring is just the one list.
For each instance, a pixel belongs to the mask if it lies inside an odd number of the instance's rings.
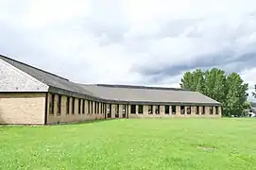
{"label": "windowless tan brick end wall at the building's left", "polygon": [[46,93],[0,93],[0,124],[44,124]]}

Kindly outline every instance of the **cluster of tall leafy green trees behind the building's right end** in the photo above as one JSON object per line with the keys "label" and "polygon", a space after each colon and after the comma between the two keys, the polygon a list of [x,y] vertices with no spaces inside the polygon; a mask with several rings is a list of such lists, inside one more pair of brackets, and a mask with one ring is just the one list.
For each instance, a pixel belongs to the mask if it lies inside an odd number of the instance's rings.
{"label": "cluster of tall leafy green trees behind the building's right end", "polygon": [[[247,102],[248,84],[237,73],[226,74],[217,68],[186,72],[181,78],[180,87],[203,93],[223,106],[223,116],[244,116],[249,108]],[[256,85],[255,85],[256,90]],[[256,97],[256,93],[253,93]]]}

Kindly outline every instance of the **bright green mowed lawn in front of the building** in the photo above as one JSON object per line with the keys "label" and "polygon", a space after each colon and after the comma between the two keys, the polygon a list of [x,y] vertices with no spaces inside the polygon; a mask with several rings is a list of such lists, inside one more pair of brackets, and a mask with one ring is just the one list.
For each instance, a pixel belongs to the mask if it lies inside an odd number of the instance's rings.
{"label": "bright green mowed lawn in front of the building", "polygon": [[256,169],[256,119],[0,127],[0,169]]}

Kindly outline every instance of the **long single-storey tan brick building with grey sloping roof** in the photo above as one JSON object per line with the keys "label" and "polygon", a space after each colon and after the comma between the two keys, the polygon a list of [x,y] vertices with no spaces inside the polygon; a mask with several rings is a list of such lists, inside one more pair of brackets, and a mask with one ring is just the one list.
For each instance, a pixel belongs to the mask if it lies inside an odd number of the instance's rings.
{"label": "long single-storey tan brick building with grey sloping roof", "polygon": [[135,117],[220,117],[221,104],[176,88],[77,84],[0,56],[0,124]]}

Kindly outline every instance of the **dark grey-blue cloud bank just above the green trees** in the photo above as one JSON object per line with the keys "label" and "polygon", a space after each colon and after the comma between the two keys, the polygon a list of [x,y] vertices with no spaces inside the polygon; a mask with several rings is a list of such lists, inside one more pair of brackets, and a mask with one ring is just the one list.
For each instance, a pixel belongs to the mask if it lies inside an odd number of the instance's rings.
{"label": "dark grey-blue cloud bank just above the green trees", "polygon": [[242,72],[246,69],[256,67],[256,51],[235,57],[231,51],[216,53],[204,57],[194,57],[194,62],[183,62],[176,65],[155,65],[152,67],[139,66],[133,68],[143,76],[148,76],[151,81],[162,81],[168,76],[178,76],[185,71],[201,69],[211,69],[218,67],[225,70],[228,74],[231,72]]}

